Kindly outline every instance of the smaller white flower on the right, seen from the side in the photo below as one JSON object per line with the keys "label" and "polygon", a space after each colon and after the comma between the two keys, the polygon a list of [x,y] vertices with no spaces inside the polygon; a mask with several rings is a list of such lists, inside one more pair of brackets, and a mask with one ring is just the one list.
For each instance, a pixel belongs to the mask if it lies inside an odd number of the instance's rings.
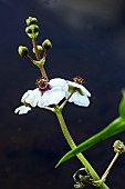
{"label": "smaller white flower on the right, seen from the side", "polygon": [[69,102],[74,102],[75,105],[87,107],[90,105],[88,97],[91,97],[91,93],[85,89],[85,87],[72,81],[67,81],[67,84],[69,92],[66,93],[66,98],[74,89],[76,89],[76,91],[69,99]]}

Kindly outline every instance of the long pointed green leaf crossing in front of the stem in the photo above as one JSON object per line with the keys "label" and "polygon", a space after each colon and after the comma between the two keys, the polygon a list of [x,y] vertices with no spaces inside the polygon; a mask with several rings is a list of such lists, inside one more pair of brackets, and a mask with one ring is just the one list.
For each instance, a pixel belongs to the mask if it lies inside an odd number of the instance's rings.
{"label": "long pointed green leaf crossing in front of the stem", "polygon": [[63,163],[64,161],[67,161],[69,159],[73,158],[77,153],[87,150],[88,148],[93,147],[97,142],[105,140],[123,131],[125,131],[125,119],[123,119],[122,117],[118,117],[117,119],[112,121],[107,127],[105,127],[102,131],[92,136],[87,140],[83,141],[81,145],[79,145],[75,149],[65,153],[61,158],[61,160],[58,162],[56,167]]}

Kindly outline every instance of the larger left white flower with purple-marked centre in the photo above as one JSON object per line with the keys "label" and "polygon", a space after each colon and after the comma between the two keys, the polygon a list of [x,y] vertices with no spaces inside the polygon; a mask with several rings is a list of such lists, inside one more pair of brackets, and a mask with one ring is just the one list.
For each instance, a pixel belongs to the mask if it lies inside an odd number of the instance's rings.
{"label": "larger left white flower with purple-marked centre", "polygon": [[[64,79],[55,78],[51,79],[45,88],[41,90],[37,88],[34,90],[28,90],[21,98],[23,105],[30,105],[31,107],[48,107],[50,105],[58,105],[63,98],[65,98],[65,92],[67,91],[67,82]],[[15,113],[19,115],[27,113],[31,110],[30,107],[19,107],[15,109]],[[29,109],[30,108],[30,109]]]}

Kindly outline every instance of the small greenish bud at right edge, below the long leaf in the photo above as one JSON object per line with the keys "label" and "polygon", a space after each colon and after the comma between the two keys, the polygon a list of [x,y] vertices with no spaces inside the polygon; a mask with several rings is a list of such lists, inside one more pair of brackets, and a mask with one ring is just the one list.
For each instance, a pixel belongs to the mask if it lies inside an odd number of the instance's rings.
{"label": "small greenish bud at right edge, below the long leaf", "polygon": [[114,147],[114,151],[118,152],[119,155],[122,155],[123,152],[125,152],[125,146],[121,140],[116,140],[113,145]]}

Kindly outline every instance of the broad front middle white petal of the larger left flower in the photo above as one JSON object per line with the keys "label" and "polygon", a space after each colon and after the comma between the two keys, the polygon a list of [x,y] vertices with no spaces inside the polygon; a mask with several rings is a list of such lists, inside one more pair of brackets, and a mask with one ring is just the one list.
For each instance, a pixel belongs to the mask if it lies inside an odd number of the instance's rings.
{"label": "broad front middle white petal of the larger left flower", "polygon": [[65,97],[65,91],[56,87],[45,91],[42,98],[39,100],[38,106],[42,108],[42,107],[48,107],[50,105],[58,105],[64,97]]}

